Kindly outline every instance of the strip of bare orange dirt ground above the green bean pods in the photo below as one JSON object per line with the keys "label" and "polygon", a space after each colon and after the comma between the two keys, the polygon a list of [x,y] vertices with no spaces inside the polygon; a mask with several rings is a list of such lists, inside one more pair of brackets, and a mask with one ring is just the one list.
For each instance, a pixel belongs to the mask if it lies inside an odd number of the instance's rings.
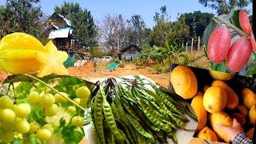
{"label": "strip of bare orange dirt ground above the green bean pods", "polygon": [[154,80],[154,82],[157,82],[161,86],[164,86],[166,88],[168,88],[169,86],[169,74],[154,74],[150,72],[148,68],[138,69],[137,66],[133,64],[128,64],[124,68],[117,68],[116,70],[112,71],[106,70],[105,67],[106,66],[96,66],[96,68],[94,68],[93,62],[87,62],[85,66],[70,67],[68,70],[70,76],[82,78],[89,81],[102,78],[142,74],[148,78],[151,78],[152,80]]}

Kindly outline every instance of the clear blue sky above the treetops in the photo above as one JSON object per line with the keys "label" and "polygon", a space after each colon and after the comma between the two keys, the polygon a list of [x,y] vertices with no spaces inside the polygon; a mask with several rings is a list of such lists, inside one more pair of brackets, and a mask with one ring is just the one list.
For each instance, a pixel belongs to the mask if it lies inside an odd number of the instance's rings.
{"label": "clear blue sky above the treetops", "polygon": [[[46,14],[54,12],[54,6],[62,5],[62,0],[41,0],[42,10]],[[188,13],[195,10],[213,13],[214,10],[199,4],[198,0],[66,0],[66,2],[78,2],[82,8],[90,10],[96,21],[100,22],[106,14],[122,14],[130,18],[133,14],[140,14],[146,22],[146,26],[154,26],[154,13],[161,6],[166,6],[171,21],[175,21],[178,13]],[[4,5],[6,0],[0,0]]]}

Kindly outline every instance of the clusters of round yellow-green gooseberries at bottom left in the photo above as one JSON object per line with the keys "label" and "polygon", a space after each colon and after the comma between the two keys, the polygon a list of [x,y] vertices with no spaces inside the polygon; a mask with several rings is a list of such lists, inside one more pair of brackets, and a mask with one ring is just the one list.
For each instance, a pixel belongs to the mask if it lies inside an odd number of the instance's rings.
{"label": "clusters of round yellow-green gooseberries at bottom left", "polygon": [[[87,86],[79,86],[74,90],[73,101],[82,107],[86,107],[90,99],[90,90]],[[63,95],[66,97],[63,97]],[[38,90],[30,90],[26,95],[26,101],[18,102],[10,95],[0,96],[0,143],[13,142],[14,138],[23,139],[23,135],[33,135],[40,141],[47,141],[54,135],[56,126],[46,121],[30,118],[33,110],[41,110],[44,118],[53,118],[58,114],[62,103],[69,103],[69,94],[38,93]],[[76,127],[84,125],[84,118],[77,111],[78,106],[69,104],[66,112],[70,114],[70,124]],[[63,108],[62,108],[63,109]],[[78,110],[77,110],[78,109]],[[80,112],[79,112],[80,113]]]}

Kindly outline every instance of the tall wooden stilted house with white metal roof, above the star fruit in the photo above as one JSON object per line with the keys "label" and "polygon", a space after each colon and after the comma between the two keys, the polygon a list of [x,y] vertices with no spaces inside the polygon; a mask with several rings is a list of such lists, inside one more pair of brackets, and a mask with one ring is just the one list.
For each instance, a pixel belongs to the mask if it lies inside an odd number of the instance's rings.
{"label": "tall wooden stilted house with white metal roof, above the star fruit", "polygon": [[51,39],[58,50],[82,52],[82,49],[79,49],[78,40],[75,38],[74,29],[68,19],[61,14],[54,13],[47,19],[46,30],[42,36]]}

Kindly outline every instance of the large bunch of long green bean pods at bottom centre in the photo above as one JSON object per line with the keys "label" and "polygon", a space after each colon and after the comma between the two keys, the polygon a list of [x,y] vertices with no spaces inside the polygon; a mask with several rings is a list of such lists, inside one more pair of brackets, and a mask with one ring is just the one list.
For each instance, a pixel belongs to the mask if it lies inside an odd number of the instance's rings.
{"label": "large bunch of long green bean pods at bottom centre", "polygon": [[184,115],[191,112],[166,91],[145,81],[135,76],[122,78],[122,82],[109,78],[100,84],[91,100],[97,143],[162,143],[166,138],[177,142],[175,132],[185,126],[189,120]]}

